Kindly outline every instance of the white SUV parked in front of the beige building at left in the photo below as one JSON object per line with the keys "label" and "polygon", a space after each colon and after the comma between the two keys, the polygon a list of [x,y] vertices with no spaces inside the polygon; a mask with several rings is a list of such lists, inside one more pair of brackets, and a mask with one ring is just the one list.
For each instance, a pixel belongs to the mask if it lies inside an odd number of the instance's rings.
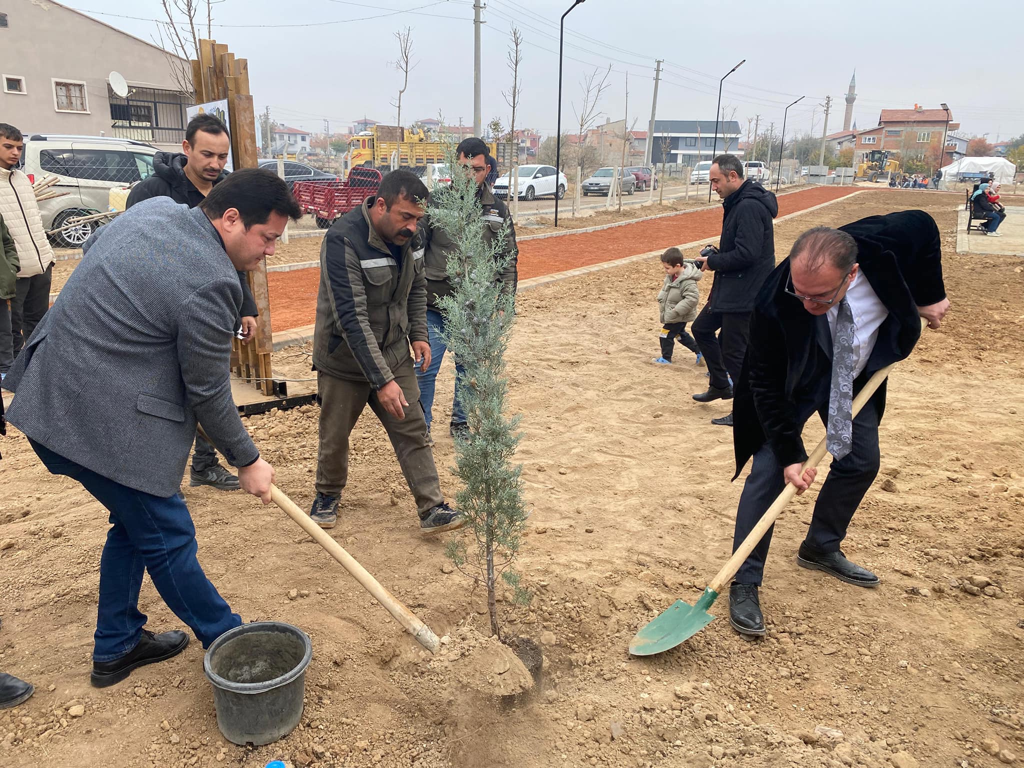
{"label": "white SUV parked in front of the beige building at left", "polygon": [[[59,229],[68,219],[104,213],[111,208],[111,189],[153,175],[157,147],[143,141],[106,136],[26,134],[22,170],[33,182],[56,175],[51,188],[67,193],[39,203],[43,227]],[[101,222],[88,221],[50,236],[59,248],[79,248]]]}

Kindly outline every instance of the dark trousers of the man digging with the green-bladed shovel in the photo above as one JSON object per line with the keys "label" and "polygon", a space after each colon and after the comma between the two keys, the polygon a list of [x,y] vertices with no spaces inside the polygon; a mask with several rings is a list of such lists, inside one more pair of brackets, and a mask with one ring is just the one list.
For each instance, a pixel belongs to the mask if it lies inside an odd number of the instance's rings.
{"label": "dark trousers of the man digging with the green-bladed shovel", "polygon": [[[825,423],[828,416],[827,394],[824,402],[808,400],[798,403],[797,410],[800,424],[804,424],[815,411],[822,423]],[[857,511],[864,494],[879,473],[880,460],[879,413],[873,402],[868,401],[853,420],[853,450],[842,459],[833,460],[828,476],[818,490],[811,526],[804,540],[812,551],[825,554],[839,550],[853,513]],[[765,443],[754,455],[751,474],[739,497],[732,541],[733,552],[739,548],[783,487],[785,480],[782,479],[782,465],[769,444]],[[774,526],[768,528],[761,543],[733,577],[734,582],[761,584],[773,529]]]}

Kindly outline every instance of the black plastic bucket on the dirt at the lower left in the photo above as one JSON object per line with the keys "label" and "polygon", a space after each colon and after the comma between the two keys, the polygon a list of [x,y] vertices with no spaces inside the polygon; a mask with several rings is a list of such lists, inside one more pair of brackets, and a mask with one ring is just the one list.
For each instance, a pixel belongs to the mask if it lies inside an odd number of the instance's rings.
{"label": "black plastic bucket on the dirt at the lower left", "polygon": [[203,671],[213,685],[217,727],[237,744],[268,744],[302,717],[313,646],[298,627],[253,622],[213,641]]}

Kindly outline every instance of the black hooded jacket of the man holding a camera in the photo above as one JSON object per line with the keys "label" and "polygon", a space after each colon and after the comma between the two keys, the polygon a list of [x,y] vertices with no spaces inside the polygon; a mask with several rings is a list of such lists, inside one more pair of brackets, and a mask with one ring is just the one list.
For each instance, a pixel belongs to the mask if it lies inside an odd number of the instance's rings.
{"label": "black hooded jacket of the man holding a camera", "polygon": [[708,308],[713,312],[749,312],[765,278],[775,266],[778,214],[775,195],[746,179],[722,201],[725,213],[719,252],[708,259],[715,270]]}

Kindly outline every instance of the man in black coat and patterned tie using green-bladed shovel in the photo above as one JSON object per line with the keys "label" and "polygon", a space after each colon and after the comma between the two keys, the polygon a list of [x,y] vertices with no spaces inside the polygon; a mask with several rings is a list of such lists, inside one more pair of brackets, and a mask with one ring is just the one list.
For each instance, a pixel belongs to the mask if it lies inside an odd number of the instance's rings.
{"label": "man in black coat and patterned tie using green-bladed shovel", "polygon": [[[843,418],[844,401],[849,415],[850,400],[871,374],[910,354],[921,318],[938,328],[948,309],[939,229],[924,211],[815,227],[797,239],[757,297],[737,382],[736,475],[751,457],[754,463],[736,510],[733,551],[786,482],[802,494],[814,481],[813,468],[801,472],[807,460],[801,432],[817,412],[835,458],[797,562],[847,584],[879,583],[840,545],[879,471],[886,385],[852,421]],[[730,623],[744,635],[765,634],[758,587],[771,535],[769,528],[729,589]]]}

